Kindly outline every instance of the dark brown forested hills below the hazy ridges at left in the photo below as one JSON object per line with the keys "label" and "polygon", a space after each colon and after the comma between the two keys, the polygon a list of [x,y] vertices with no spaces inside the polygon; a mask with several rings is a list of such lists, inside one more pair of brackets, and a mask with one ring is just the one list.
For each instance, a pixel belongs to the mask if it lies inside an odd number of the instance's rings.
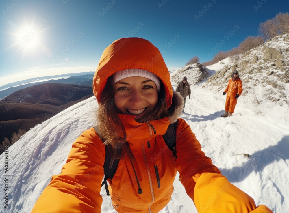
{"label": "dark brown forested hills below the hazy ridges at left", "polygon": [[92,79],[77,76],[71,79],[78,84],[42,82],[20,89],[0,101],[0,153],[3,152],[1,145],[4,142],[12,145],[36,124],[93,96],[92,85],[89,83]]}

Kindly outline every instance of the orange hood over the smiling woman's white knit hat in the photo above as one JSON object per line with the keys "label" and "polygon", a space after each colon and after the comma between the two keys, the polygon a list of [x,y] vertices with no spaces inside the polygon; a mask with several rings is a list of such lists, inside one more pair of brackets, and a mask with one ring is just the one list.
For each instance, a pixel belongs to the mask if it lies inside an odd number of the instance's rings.
{"label": "orange hood over the smiling woman's white knit hat", "polygon": [[158,48],[143,38],[121,38],[110,44],[99,60],[93,77],[93,93],[99,101],[109,76],[119,70],[138,68],[152,72],[164,84],[167,107],[172,103],[172,85],[168,68]]}

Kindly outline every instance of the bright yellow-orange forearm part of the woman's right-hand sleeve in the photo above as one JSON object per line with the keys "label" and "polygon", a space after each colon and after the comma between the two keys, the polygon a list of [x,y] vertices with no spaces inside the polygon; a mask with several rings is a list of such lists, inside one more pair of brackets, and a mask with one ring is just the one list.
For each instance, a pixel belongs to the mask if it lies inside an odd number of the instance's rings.
{"label": "bright yellow-orange forearm part of the woman's right-hand sleeve", "polygon": [[194,203],[198,212],[273,213],[255,201],[221,174],[203,173],[194,188]]}

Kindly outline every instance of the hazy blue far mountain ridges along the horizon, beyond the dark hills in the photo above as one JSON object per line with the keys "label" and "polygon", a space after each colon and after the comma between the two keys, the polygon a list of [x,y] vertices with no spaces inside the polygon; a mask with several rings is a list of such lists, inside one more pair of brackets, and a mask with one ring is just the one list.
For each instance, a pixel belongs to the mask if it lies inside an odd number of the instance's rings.
{"label": "hazy blue far mountain ridges along the horizon, beyond the dark hills", "polygon": [[[27,87],[31,87],[33,85],[39,85],[43,83],[92,85],[93,75],[94,75],[94,72],[71,73],[71,74],[62,74],[62,75],[57,75],[57,76],[45,76],[45,77],[39,77],[39,78],[34,78],[34,79],[27,79],[23,81],[17,81],[17,82],[6,84],[0,87],[0,90],[3,89],[0,91],[0,100],[4,98],[5,96],[8,96],[20,89],[24,89]],[[70,77],[61,78],[61,77],[67,77],[67,76],[70,76]],[[53,78],[61,78],[61,79],[45,81],[45,79],[53,79]]]}

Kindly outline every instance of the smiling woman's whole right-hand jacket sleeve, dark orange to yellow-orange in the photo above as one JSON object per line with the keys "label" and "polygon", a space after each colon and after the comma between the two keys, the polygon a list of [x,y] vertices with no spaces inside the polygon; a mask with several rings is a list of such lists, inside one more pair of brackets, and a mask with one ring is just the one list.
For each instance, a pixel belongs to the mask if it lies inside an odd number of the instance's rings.
{"label": "smiling woman's whole right-hand jacket sleeve, dark orange to yellow-orange", "polygon": [[198,212],[273,213],[264,205],[257,208],[253,198],[221,175],[201,151],[199,141],[183,119],[179,121],[176,135],[177,170]]}

